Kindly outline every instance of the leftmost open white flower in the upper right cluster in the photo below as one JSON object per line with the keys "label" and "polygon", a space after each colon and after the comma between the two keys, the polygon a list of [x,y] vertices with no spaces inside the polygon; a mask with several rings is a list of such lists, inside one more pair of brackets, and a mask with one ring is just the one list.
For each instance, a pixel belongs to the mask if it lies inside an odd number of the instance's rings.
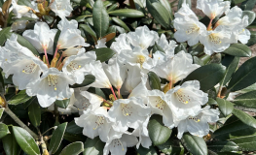
{"label": "leftmost open white flower in the upper right cluster", "polygon": [[206,27],[198,18],[190,16],[178,17],[174,19],[174,28],[177,30],[174,37],[178,42],[188,41],[189,46],[199,43],[200,35],[206,31]]}

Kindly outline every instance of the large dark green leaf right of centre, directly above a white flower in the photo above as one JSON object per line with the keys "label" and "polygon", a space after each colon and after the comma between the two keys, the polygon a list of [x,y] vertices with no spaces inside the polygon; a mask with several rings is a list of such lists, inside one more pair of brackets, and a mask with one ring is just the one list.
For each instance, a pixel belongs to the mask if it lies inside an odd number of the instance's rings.
{"label": "large dark green leaf right of centre, directly above a white flower", "polygon": [[197,70],[193,71],[183,81],[199,80],[201,90],[206,91],[215,86],[225,74],[225,67],[219,64],[209,64],[201,66]]}

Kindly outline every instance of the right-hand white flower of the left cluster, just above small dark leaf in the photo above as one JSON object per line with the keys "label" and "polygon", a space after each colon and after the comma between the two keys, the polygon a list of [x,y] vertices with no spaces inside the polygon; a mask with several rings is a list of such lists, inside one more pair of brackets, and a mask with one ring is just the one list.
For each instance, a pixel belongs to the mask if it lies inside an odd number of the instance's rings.
{"label": "right-hand white flower of the left cluster, just above small dark leaf", "polygon": [[76,79],[76,83],[81,84],[85,79],[86,73],[89,74],[91,72],[89,64],[94,61],[96,61],[94,51],[72,55],[64,60],[62,71],[68,76],[73,76]]}

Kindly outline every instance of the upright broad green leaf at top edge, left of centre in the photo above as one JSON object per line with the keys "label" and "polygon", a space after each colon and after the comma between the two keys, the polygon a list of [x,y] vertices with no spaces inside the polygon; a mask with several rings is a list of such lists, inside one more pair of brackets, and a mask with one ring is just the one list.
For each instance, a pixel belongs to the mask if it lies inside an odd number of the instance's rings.
{"label": "upright broad green leaf at top edge, left of centre", "polygon": [[109,16],[101,0],[96,0],[93,5],[92,21],[97,37],[104,37],[109,26]]}

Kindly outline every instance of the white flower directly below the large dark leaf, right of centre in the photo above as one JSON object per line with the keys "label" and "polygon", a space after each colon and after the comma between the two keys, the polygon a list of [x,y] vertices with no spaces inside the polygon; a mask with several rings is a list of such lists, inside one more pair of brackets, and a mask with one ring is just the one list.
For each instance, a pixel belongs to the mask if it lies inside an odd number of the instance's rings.
{"label": "white flower directly below the large dark leaf, right of centre", "polygon": [[208,94],[200,90],[198,80],[186,81],[170,89],[168,93],[175,124],[188,116],[197,115],[201,106],[208,102]]}

